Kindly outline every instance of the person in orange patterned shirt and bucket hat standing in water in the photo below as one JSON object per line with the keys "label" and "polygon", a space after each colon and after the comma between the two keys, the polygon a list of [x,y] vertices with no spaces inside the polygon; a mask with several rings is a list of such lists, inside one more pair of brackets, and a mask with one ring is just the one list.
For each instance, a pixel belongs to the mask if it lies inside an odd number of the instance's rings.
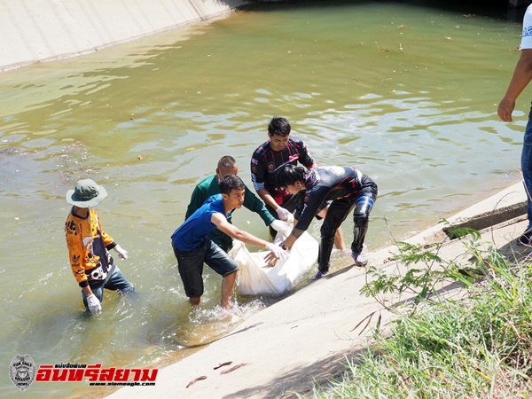
{"label": "person in orange patterned shirt and bucket hat standing in water", "polygon": [[93,180],[80,180],[66,192],[66,202],[73,207],[65,223],[66,245],[74,278],[82,287],[85,307],[95,316],[102,311],[104,288],[118,293],[132,293],[135,287],[113,263],[109,250],[128,259],[128,252],[102,229],[97,207],[107,196],[106,189]]}

